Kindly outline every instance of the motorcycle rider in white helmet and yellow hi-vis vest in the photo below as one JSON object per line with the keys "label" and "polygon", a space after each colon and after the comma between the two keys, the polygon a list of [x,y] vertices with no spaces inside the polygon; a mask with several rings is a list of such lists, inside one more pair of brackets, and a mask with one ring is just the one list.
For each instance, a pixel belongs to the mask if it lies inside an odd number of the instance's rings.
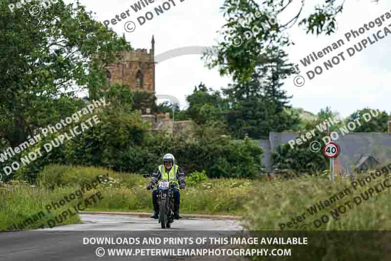
{"label": "motorcycle rider in white helmet and yellow hi-vis vest", "polygon": [[[161,179],[174,181],[177,184],[179,182],[179,189],[185,189],[185,173],[182,172],[179,166],[175,165],[175,158],[173,154],[167,153],[163,156],[163,165],[158,166],[154,173],[152,173],[152,179],[147,187],[147,190],[151,190],[154,185]],[[173,188],[174,192],[174,218],[182,218],[179,215],[180,205],[180,193],[179,190]],[[153,215],[154,219],[159,218],[159,206],[157,205],[157,190],[152,191],[152,204],[153,204]]]}

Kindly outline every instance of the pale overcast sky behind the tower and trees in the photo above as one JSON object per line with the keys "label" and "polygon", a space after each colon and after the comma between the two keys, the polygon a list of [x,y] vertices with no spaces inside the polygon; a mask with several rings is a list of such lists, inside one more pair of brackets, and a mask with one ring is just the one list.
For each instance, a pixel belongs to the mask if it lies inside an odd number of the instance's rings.
{"label": "pale overcast sky behind the tower and trees", "polygon": [[[135,13],[130,5],[135,0],[81,0],[87,6],[87,10],[95,12],[95,18],[102,22],[115,18],[115,15],[130,10],[130,17],[110,24],[115,32],[122,35],[125,33],[127,40],[134,48],[151,48],[152,34],[155,38],[155,54],[188,46],[213,46],[218,39],[217,30],[225,24],[225,20],[220,11],[220,6],[224,0],[174,0],[176,6],[163,14],[154,15],[153,19],[143,25],[139,25],[137,17],[147,11],[153,11],[153,7],[163,3],[158,0],[142,11]],[[261,0],[259,0],[261,2]],[[295,4],[300,4],[296,1]],[[324,0],[307,1],[306,9],[301,17],[314,10],[316,3]],[[299,10],[299,5],[292,5],[289,10],[279,17],[280,22],[285,22]],[[361,52],[349,57],[346,49],[352,47],[357,42],[371,36],[378,30],[383,30],[384,26],[391,24],[391,19],[387,20],[381,27],[375,26],[370,31],[366,31],[358,38],[346,41],[345,33],[351,29],[358,30],[364,24],[374,21],[377,17],[391,12],[391,2],[380,0],[375,4],[371,0],[349,0],[345,4],[345,9],[338,16],[338,31],[332,36],[316,37],[306,34],[304,28],[299,28],[297,24],[289,30],[291,40],[295,46],[289,47],[286,51],[289,54],[290,62],[299,64],[299,69],[305,78],[302,87],[293,84],[294,76],[287,78],[283,89],[288,95],[293,95],[291,105],[296,108],[303,108],[306,111],[317,113],[321,108],[330,106],[333,111],[337,111],[342,117],[347,117],[355,110],[364,107],[371,107],[380,110],[391,111],[390,98],[390,46],[391,35],[379,40],[379,42],[368,45]],[[133,21],[136,28],[128,33],[124,29],[127,21]],[[391,30],[391,26],[388,26]],[[384,31],[382,32],[384,35]],[[372,37],[373,38],[373,37]],[[300,59],[307,56],[312,51],[316,53],[328,45],[343,39],[345,45],[324,56],[310,67],[304,68]],[[315,66],[323,66],[323,63],[331,59],[334,55],[344,52],[345,61],[334,66],[334,68],[316,75],[312,80],[308,80],[305,72],[313,70]],[[174,95],[181,101],[181,106],[185,104],[185,96],[192,94],[194,86],[203,82],[208,87],[215,90],[226,87],[231,83],[230,77],[221,77],[217,69],[209,70],[204,66],[201,55],[185,55],[175,57],[156,65],[156,94]]]}

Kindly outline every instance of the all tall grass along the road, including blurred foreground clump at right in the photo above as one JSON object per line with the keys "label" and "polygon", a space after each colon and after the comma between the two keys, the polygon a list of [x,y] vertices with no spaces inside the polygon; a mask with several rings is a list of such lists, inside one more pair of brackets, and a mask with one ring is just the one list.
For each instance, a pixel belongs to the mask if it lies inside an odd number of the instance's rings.
{"label": "all tall grass along the road, including blurred foreground clump at right", "polygon": [[[47,166],[38,176],[37,187],[26,184],[12,186],[12,190],[0,190],[0,229],[6,230],[12,224],[22,223],[26,218],[45,211],[45,206],[58,201],[65,195],[90,183],[97,176],[107,176],[108,181],[95,190],[87,191],[87,196],[100,191],[103,199],[86,211],[152,211],[152,191],[146,190],[149,183],[140,174],[119,173],[105,168],[85,166]],[[379,179],[384,179],[380,177]],[[346,205],[353,197],[373,187],[378,180],[363,188],[353,190],[348,179],[329,181],[322,177],[298,177],[290,180],[261,181],[247,179],[208,179],[204,173],[187,177],[187,187],[181,190],[181,213],[231,214],[245,216],[245,226],[251,230],[389,230],[391,229],[391,206],[387,204],[391,191],[385,189],[351,208]],[[390,183],[391,184],[391,183]],[[349,188],[351,194],[337,200],[322,211],[310,214],[310,206],[325,201],[332,195]],[[64,208],[78,201],[65,204]],[[346,212],[334,218],[331,211],[345,206]],[[53,219],[65,209],[46,214],[37,224],[24,226],[38,227]],[[298,216],[305,219],[297,220]],[[327,222],[319,224],[322,216]],[[296,224],[288,227],[288,222],[296,219]],[[315,225],[315,222],[316,223]],[[77,223],[77,215],[65,220],[63,224]]]}

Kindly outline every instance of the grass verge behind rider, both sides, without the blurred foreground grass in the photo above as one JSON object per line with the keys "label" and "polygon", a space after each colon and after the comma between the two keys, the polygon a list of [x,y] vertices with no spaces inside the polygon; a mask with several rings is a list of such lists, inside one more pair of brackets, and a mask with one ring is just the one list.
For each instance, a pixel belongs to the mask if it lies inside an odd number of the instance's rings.
{"label": "grass verge behind rider, both sides, without the blurred foreground grass", "polygon": [[[96,167],[52,165],[46,166],[39,173],[35,188],[19,184],[11,185],[12,190],[0,190],[0,230],[6,231],[14,223],[22,224],[27,218],[40,212],[45,215],[39,221],[19,227],[47,227],[48,220],[77,205],[79,201],[75,199],[51,213],[46,211],[45,206],[91,184],[97,176],[106,176],[107,181],[94,190],[86,191],[86,196],[99,191],[103,198],[85,211],[152,211],[152,191],[146,190],[149,180],[140,174]],[[251,198],[250,191],[257,191],[259,184],[250,183],[246,179],[208,179],[203,175],[188,177],[188,186],[180,193],[181,213],[241,215],[245,211],[245,203]],[[60,225],[78,222],[80,218],[75,215]]]}

